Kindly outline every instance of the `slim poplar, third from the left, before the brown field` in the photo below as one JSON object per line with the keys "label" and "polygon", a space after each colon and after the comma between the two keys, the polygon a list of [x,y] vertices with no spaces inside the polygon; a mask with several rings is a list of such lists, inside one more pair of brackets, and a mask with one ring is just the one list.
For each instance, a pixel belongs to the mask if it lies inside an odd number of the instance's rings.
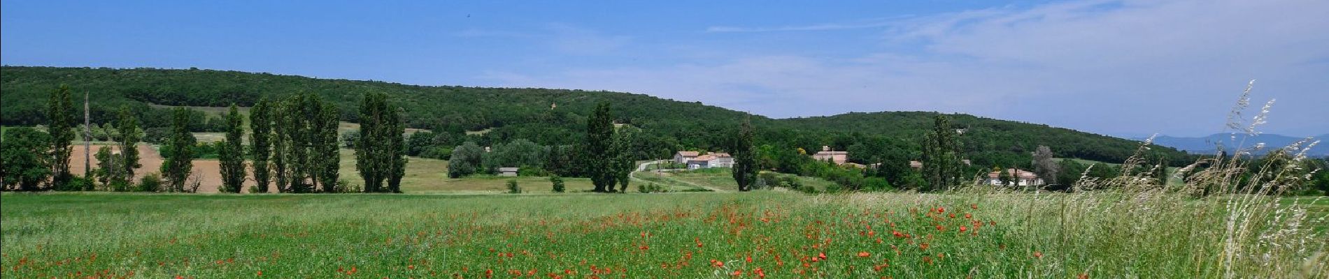
{"label": "slim poplar, third from the left, before the brown field", "polygon": [[162,160],[162,176],[166,179],[169,192],[185,192],[185,181],[193,171],[194,134],[189,132],[189,108],[175,108],[171,118],[171,132],[167,138],[166,149],[169,153]]}

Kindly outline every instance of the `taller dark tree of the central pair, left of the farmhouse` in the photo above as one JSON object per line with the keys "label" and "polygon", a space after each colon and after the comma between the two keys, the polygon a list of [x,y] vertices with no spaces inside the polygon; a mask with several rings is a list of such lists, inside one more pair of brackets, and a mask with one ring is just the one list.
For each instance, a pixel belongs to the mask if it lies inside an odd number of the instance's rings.
{"label": "taller dark tree of the central pair, left of the farmhouse", "polygon": [[610,145],[614,140],[614,120],[609,111],[609,102],[595,106],[595,112],[586,119],[586,159],[585,165],[590,175],[594,192],[610,192],[614,186],[614,172],[610,161],[615,156]]}

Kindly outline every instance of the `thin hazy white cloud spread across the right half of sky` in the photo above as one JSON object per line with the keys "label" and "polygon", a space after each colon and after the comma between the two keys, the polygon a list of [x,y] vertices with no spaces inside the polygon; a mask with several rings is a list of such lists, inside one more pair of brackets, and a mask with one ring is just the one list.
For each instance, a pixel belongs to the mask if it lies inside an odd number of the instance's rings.
{"label": "thin hazy white cloud spread across the right half of sky", "polygon": [[[490,74],[510,86],[601,89],[702,100],[769,116],[924,110],[1087,127],[1200,135],[1260,78],[1271,132],[1322,134],[1329,103],[1329,1],[1067,1],[844,25],[882,28],[884,46],[684,60],[670,66]],[[707,49],[707,52],[720,52]],[[1285,119],[1280,123],[1278,119]],[[1196,123],[1213,122],[1212,127]]]}

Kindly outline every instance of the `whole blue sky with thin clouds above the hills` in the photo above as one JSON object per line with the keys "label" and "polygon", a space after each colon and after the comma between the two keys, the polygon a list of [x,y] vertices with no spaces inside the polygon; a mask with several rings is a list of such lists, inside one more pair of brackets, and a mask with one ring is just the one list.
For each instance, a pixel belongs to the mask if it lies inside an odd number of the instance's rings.
{"label": "whole blue sky with thin clouds above the hills", "polygon": [[1329,134],[1329,1],[0,1],[0,62],[614,90],[773,118]]}

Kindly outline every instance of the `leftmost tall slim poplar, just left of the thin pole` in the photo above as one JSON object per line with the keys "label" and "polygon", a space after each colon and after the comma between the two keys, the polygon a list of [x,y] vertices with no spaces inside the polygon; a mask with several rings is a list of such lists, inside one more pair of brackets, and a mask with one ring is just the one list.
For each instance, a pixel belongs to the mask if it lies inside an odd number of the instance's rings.
{"label": "leftmost tall slim poplar, just left of the thin pole", "polygon": [[51,93],[51,102],[47,106],[47,132],[51,134],[51,186],[64,189],[69,182],[69,155],[73,152],[74,140],[74,107],[69,97],[69,86],[60,85]]}

